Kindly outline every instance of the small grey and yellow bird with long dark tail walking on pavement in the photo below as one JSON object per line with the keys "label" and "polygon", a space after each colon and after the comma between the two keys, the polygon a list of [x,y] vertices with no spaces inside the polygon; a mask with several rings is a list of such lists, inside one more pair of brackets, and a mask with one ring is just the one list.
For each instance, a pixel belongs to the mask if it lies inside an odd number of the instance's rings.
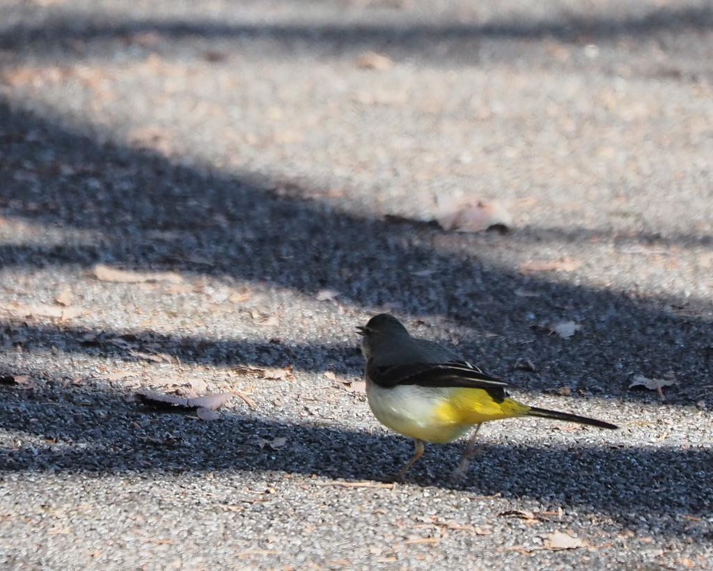
{"label": "small grey and yellow bird with long dark tail walking on pavement", "polygon": [[548,411],[513,400],[506,393],[511,384],[483,373],[456,351],[416,339],[396,317],[379,314],[359,326],[361,352],[366,359],[366,398],[374,416],[414,439],[416,451],[396,475],[400,480],[424,453],[424,442],[453,442],[473,432],[453,479],[461,478],[481,423],[515,416],[539,416],[558,421],[617,428],[613,424],[576,414]]}

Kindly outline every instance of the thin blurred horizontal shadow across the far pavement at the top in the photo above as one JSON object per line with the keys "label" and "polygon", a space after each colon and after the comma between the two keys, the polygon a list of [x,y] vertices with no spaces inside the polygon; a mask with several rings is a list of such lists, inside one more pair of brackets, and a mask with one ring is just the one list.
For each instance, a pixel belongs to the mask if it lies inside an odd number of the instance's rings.
{"label": "thin blurred horizontal shadow across the far pavement at the top", "polygon": [[[518,18],[512,21],[491,21],[486,24],[467,21],[446,24],[422,22],[401,23],[399,26],[386,21],[384,24],[226,24],[224,21],[172,21],[168,19],[143,19],[136,21],[108,21],[106,14],[87,17],[67,11],[37,26],[18,24],[9,26],[0,33],[0,47],[8,50],[31,47],[56,53],[66,50],[76,56],[91,44],[93,56],[103,49],[114,50],[115,41],[134,41],[137,36],[158,34],[170,41],[205,38],[260,39],[282,46],[290,53],[295,46],[308,46],[322,52],[324,48],[350,50],[353,48],[384,48],[403,51],[417,58],[434,58],[438,53],[466,55],[472,41],[483,39],[554,39],[575,43],[620,38],[655,36],[661,32],[678,34],[701,33],[713,29],[713,10],[710,6],[661,6],[647,14],[580,16],[565,14],[558,19],[533,20]],[[439,46],[434,50],[434,46]],[[443,46],[448,49],[443,50]],[[87,50],[88,52],[90,50]]]}

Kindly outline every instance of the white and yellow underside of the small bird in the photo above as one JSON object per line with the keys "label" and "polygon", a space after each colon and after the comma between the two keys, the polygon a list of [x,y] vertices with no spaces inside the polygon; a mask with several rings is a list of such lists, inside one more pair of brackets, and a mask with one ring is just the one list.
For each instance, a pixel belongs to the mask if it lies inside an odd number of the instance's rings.
{"label": "white and yellow underside of the small bird", "polygon": [[453,442],[481,422],[522,416],[528,407],[506,398],[498,403],[483,389],[384,389],[367,383],[374,416],[391,430],[432,443]]}

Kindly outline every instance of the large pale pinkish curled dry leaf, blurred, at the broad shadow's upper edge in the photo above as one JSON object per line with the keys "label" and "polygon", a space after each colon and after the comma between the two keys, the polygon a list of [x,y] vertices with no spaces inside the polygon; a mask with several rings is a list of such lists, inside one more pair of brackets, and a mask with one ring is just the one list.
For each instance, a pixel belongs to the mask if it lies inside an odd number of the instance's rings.
{"label": "large pale pinkish curled dry leaf, blurred, at the broad shadow's upper edge", "polygon": [[438,224],[443,230],[481,232],[491,227],[507,229],[513,217],[500,202],[483,202],[473,198],[446,199],[438,207]]}

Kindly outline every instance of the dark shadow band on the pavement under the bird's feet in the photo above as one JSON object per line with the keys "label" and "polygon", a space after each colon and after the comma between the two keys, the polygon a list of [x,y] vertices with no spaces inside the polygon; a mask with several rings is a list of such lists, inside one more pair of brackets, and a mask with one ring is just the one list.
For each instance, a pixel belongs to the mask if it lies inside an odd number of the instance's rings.
{"label": "dark shadow band on the pavement under the bird's feet", "polygon": [[[16,433],[18,441],[34,432],[36,416],[56,418],[51,432],[39,435],[43,443],[0,451],[6,474],[248,470],[262,478],[277,472],[379,480],[411,453],[405,438],[334,425],[270,422],[236,413],[205,423],[147,410],[117,394],[82,404],[34,398],[27,392],[2,393],[0,426]],[[284,446],[271,448],[275,438],[285,438]],[[602,442],[605,438],[602,432]],[[634,527],[642,516],[655,525],[660,518],[707,515],[713,502],[713,456],[707,449],[506,446],[483,439],[481,453],[456,489],[537,500],[555,509],[569,505]],[[429,446],[406,479],[449,488],[460,453],[461,444]],[[682,524],[679,529],[674,525],[672,533],[689,532]]]}

